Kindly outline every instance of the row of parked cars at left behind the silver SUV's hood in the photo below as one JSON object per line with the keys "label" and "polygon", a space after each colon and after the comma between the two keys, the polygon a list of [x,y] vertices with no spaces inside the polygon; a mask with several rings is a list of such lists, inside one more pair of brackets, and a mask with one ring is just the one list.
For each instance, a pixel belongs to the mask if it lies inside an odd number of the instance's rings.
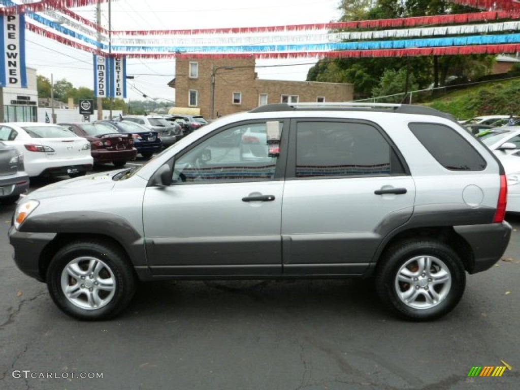
{"label": "row of parked cars at left behind the silver SUV's hood", "polygon": [[14,203],[30,177],[83,176],[94,164],[116,168],[137,154],[150,158],[204,125],[190,115],[125,115],[118,120],[0,124],[0,201]]}

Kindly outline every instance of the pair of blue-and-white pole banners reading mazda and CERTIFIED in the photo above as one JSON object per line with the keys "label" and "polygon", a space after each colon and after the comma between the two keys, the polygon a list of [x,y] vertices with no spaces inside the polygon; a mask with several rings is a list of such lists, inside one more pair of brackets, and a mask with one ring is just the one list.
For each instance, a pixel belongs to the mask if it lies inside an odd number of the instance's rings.
{"label": "pair of blue-and-white pole banners reading mazda and CERTIFIED", "polygon": [[126,98],[126,58],[94,56],[94,96]]}

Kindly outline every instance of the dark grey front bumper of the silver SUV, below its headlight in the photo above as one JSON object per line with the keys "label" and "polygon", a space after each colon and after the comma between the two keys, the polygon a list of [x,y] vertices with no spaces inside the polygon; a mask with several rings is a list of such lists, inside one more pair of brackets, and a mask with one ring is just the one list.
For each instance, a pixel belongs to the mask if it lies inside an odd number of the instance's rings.
{"label": "dark grey front bumper of the silver SUV, below its headlight", "polygon": [[56,237],[56,233],[28,233],[9,229],[9,243],[15,249],[13,255],[17,267],[31,278],[45,280],[40,269],[40,258],[45,246]]}

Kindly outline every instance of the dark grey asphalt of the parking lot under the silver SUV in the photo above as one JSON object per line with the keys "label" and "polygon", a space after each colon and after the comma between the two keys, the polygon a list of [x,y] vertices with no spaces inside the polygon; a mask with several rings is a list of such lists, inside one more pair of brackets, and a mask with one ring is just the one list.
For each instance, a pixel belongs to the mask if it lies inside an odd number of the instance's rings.
{"label": "dark grey asphalt of the parking lot under the silver SUV", "polygon": [[[33,188],[52,180],[35,180]],[[468,276],[460,304],[434,322],[395,318],[369,282],[356,280],[143,283],[118,318],[80,322],[15,266],[7,238],[13,211],[0,206],[0,389],[437,390],[520,383],[520,216],[506,217],[514,230],[502,260]],[[500,377],[468,376],[472,367],[506,363],[511,370]]]}

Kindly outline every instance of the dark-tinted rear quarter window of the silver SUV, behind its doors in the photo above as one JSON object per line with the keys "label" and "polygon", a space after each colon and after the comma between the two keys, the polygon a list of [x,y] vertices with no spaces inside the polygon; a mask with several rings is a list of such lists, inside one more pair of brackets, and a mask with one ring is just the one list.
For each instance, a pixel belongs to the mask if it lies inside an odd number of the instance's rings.
{"label": "dark-tinted rear quarter window of the silver SUV, behind its doors", "polygon": [[437,123],[411,123],[409,128],[446,169],[482,171],[486,167],[486,160],[451,127]]}

